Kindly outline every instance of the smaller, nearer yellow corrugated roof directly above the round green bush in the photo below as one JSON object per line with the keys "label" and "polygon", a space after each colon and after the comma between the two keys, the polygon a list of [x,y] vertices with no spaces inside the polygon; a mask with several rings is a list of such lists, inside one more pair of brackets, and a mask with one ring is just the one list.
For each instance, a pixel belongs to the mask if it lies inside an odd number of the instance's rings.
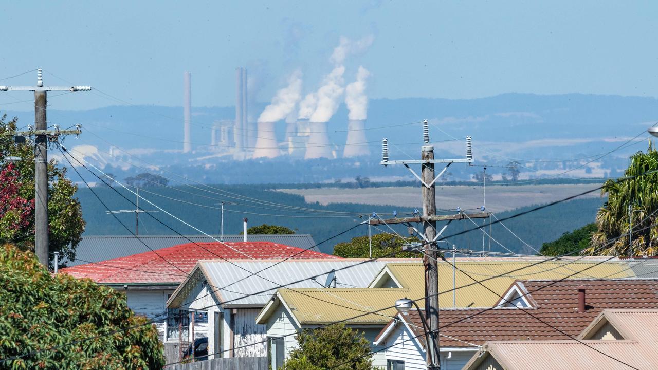
{"label": "smaller, nearer yellow corrugated roof directly above the round green bush", "polygon": [[[349,320],[345,321],[346,323],[386,324],[397,313],[395,308],[387,307],[395,305],[395,301],[400,298],[408,297],[410,290],[405,288],[305,288],[279,289],[278,294],[301,324],[330,323],[347,319]],[[369,313],[372,311],[378,312]]]}

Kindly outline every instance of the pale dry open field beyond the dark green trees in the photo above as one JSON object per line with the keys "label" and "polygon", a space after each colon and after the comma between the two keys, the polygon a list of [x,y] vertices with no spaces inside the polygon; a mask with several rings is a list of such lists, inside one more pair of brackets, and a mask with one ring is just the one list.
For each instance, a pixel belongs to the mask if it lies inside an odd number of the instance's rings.
{"label": "pale dry open field beyond the dark green trees", "polygon": [[[568,185],[493,185],[486,188],[486,206],[493,212],[509,211],[526,205],[549,203],[594,189],[599,184]],[[283,189],[281,192],[303,196],[309,203],[359,203],[420,207],[420,186],[361,189]],[[598,191],[582,198],[597,198]],[[482,186],[437,186],[437,209],[478,208],[482,206]]]}

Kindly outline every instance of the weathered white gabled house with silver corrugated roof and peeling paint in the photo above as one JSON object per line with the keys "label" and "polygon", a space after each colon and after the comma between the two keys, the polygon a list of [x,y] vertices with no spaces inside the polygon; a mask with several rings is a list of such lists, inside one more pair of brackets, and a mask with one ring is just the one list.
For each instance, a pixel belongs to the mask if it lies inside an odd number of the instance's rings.
{"label": "weathered white gabled house with silver corrugated roof and peeling paint", "polygon": [[[190,277],[172,294],[167,307],[171,313],[207,314],[212,329],[205,330],[203,335],[209,338],[211,358],[215,357],[214,354],[221,357],[266,356],[268,345],[276,352],[276,343],[268,344],[266,327],[258,324],[256,318],[263,307],[270,306],[272,294],[280,286],[287,286],[295,292],[309,288],[309,297],[320,292],[317,302],[322,303],[334,297],[334,290],[367,286],[386,263],[404,261],[416,263],[418,260],[199,261]],[[253,275],[249,271],[259,273]],[[193,328],[192,325],[190,330],[197,334],[198,329]],[[273,358],[276,359],[276,354]]]}

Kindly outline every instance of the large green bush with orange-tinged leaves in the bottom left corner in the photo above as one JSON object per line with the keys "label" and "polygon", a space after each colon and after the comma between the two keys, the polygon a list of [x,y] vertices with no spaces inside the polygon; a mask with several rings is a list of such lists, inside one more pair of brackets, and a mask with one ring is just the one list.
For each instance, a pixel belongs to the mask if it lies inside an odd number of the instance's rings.
{"label": "large green bush with orange-tinged leaves in the bottom left corner", "polygon": [[1,369],[162,369],[155,326],[134,315],[124,294],[51,275],[9,244],[0,247],[0,280],[0,359],[42,350]]}

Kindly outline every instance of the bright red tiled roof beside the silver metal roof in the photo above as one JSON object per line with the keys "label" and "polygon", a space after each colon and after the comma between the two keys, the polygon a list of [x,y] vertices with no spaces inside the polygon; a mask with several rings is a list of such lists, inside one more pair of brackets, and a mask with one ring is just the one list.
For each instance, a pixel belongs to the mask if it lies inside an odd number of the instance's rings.
{"label": "bright red tiled roof beside the silver metal roof", "polygon": [[[302,250],[272,242],[188,243],[169,248],[88,263],[61,269],[77,278],[91,278],[105,284],[174,283],[185,280],[186,274],[200,259],[336,259],[316,251]],[[166,261],[165,261],[166,260]],[[180,270],[184,271],[184,273]]]}

